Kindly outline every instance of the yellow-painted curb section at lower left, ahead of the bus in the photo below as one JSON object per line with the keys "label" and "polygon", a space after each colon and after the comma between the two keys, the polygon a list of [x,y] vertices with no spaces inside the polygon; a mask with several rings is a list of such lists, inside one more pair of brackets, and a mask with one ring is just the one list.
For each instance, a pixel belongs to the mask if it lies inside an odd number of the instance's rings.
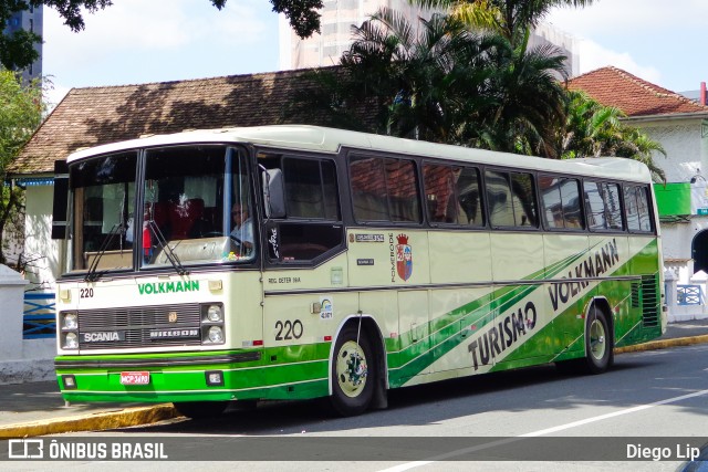
{"label": "yellow-painted curb section at lower left, ahead of the bus", "polygon": [[1,426],[0,439],[33,438],[37,436],[77,431],[102,431],[138,424],[150,424],[179,416],[171,403],[126,408],[117,411],[102,411],[92,415]]}

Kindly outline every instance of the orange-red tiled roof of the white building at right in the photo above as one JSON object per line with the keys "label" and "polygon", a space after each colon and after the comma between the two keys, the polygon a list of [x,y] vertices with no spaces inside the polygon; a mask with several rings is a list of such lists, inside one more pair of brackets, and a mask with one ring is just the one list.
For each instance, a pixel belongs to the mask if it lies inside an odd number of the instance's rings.
{"label": "orange-red tiled roof of the white building at right", "polygon": [[627,116],[708,114],[707,106],[612,66],[579,75],[569,81],[568,87],[582,90],[602,105],[617,107]]}

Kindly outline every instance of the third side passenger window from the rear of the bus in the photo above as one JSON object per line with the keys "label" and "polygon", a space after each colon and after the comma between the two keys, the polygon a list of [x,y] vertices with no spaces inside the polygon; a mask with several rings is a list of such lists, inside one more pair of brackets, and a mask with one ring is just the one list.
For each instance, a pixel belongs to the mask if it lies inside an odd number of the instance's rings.
{"label": "third side passenger window from the rear of the bus", "polygon": [[583,229],[577,179],[541,176],[539,188],[549,229]]}

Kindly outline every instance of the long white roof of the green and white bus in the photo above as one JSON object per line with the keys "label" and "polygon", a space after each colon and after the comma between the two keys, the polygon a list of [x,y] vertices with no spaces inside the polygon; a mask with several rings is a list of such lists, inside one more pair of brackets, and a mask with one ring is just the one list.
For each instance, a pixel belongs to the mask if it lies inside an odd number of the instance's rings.
{"label": "long white roof of the green and white bus", "polygon": [[644,164],[622,157],[555,160],[310,125],[235,127],[152,135],[77,150],[70,155],[66,160],[72,162],[95,155],[126,149],[196,143],[252,143],[264,147],[320,153],[339,153],[343,147],[358,148],[466,162],[510,166],[517,169],[641,182],[652,181],[650,172]]}

